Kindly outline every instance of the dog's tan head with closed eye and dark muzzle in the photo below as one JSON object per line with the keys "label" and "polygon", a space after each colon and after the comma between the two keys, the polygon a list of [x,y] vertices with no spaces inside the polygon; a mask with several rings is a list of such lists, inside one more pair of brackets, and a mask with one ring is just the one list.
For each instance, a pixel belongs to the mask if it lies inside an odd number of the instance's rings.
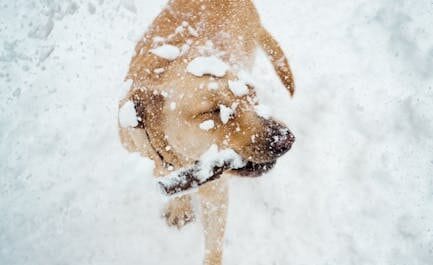
{"label": "dog's tan head with closed eye and dark muzzle", "polygon": [[224,78],[167,78],[163,85],[135,85],[129,94],[151,148],[167,164],[185,167],[213,144],[248,161],[235,174],[257,176],[290,150],[295,137],[272,118],[257,113],[255,88],[236,74]]}

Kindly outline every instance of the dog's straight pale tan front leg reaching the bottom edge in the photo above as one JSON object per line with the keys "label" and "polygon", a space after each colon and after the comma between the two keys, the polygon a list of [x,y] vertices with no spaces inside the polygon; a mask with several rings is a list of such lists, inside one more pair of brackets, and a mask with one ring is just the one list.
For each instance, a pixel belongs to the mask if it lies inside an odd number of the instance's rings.
{"label": "dog's straight pale tan front leg reaching the bottom edge", "polygon": [[205,236],[204,265],[220,265],[223,257],[228,186],[222,177],[199,189]]}

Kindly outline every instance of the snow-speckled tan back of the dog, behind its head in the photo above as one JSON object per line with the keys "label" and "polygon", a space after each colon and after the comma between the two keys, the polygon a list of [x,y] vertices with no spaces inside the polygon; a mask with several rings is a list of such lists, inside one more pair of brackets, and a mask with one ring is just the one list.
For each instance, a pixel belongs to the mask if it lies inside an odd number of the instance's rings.
{"label": "snow-speckled tan back of the dog, behind its head", "polygon": [[225,61],[249,69],[260,31],[259,16],[249,0],[171,1],[137,44],[128,77],[141,82],[160,80],[160,74],[153,71],[172,62],[148,51],[161,43],[190,47],[184,59],[213,48],[222,51],[220,57]]}

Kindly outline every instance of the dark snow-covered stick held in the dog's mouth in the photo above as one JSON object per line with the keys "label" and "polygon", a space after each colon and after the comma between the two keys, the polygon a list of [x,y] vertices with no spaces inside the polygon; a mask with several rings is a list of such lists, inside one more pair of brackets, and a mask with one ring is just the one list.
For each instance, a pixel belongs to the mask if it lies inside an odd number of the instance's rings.
{"label": "dark snow-covered stick held in the dog's mouth", "polygon": [[213,145],[193,166],[175,171],[158,183],[164,194],[175,195],[216,180],[224,172],[242,177],[258,177],[272,169],[275,163],[246,161],[231,149],[218,151],[218,147]]}

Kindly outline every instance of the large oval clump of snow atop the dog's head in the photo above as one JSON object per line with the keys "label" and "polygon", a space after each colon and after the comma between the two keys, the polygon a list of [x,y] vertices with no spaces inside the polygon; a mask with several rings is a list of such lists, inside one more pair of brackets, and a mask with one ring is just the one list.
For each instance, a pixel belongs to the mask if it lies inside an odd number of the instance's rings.
{"label": "large oval clump of snow atop the dog's head", "polygon": [[213,75],[223,77],[227,73],[229,66],[215,56],[197,57],[192,60],[187,67],[187,71],[195,76]]}

